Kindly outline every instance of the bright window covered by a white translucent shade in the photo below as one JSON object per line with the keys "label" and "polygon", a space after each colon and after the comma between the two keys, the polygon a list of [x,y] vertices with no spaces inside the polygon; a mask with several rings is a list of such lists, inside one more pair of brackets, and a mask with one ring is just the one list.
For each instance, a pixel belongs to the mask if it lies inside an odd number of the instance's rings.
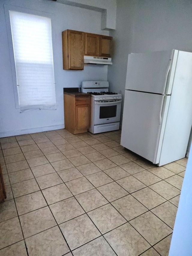
{"label": "bright window covered by a white translucent shade", "polygon": [[21,111],[55,109],[51,19],[9,11]]}

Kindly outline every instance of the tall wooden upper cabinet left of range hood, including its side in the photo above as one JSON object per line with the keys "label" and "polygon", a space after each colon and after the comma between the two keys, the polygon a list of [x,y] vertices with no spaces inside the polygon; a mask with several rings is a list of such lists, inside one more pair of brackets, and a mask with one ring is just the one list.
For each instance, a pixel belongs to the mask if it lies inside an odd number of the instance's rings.
{"label": "tall wooden upper cabinet left of range hood, including its side", "polygon": [[62,32],[63,69],[83,70],[84,33],[75,30]]}

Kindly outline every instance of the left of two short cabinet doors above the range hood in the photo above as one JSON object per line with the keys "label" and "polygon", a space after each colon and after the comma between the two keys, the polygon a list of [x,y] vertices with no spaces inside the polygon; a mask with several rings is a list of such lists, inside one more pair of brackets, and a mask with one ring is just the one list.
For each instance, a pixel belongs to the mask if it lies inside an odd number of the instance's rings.
{"label": "left of two short cabinet doors above the range hood", "polygon": [[100,35],[85,33],[85,55],[99,56]]}

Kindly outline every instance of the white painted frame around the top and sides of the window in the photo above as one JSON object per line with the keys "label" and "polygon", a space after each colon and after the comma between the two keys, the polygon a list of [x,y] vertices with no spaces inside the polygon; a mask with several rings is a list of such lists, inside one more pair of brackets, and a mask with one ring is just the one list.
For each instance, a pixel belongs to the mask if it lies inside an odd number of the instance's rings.
{"label": "white painted frame around the top and sides of the window", "polygon": [[[9,16],[9,11],[18,11],[26,14],[33,14],[33,15],[38,15],[41,17],[47,17],[51,19],[51,33],[52,33],[52,54],[53,54],[53,74],[54,74],[54,80],[56,80],[55,76],[55,33],[54,33],[54,28],[55,28],[55,15],[52,13],[47,13],[43,11],[36,11],[28,8],[22,8],[22,7],[17,7],[13,5],[7,5],[4,4],[4,13],[5,13],[5,20],[6,20],[6,27],[7,27],[7,38],[8,38],[8,45],[9,45],[9,52],[10,52],[10,65],[11,65],[11,73],[12,73],[12,80],[13,80],[13,91],[14,91],[14,98],[15,98],[15,108],[20,109],[19,105],[19,91],[18,91],[18,86],[17,86],[17,79],[16,79],[16,68],[15,68],[15,59],[14,59],[14,51],[13,51],[13,40],[12,40],[12,33],[11,33],[11,24],[10,24],[10,16]],[[55,82],[56,84],[56,82]],[[57,97],[56,97],[56,86],[55,86],[55,102],[56,106],[57,104]]]}

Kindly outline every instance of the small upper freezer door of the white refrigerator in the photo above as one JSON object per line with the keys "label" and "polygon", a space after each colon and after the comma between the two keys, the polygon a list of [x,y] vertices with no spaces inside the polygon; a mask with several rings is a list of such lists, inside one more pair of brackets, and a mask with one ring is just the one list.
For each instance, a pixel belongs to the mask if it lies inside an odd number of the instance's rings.
{"label": "small upper freezer door of the white refrigerator", "polygon": [[164,94],[172,53],[173,50],[129,54],[125,89]]}

